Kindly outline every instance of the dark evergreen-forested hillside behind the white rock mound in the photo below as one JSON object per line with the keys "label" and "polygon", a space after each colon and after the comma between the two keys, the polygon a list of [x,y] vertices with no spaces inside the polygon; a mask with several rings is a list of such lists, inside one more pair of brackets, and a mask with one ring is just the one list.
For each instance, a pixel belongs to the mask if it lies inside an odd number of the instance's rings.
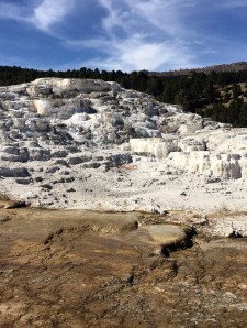
{"label": "dark evergreen-forested hillside behind the white rock mound", "polygon": [[131,74],[80,68],[54,72],[0,66],[0,85],[31,81],[38,77],[94,78],[114,80],[124,88],[151,94],[157,100],[179,103],[184,111],[211,117],[234,127],[247,127],[247,70],[192,72],[190,75],[160,76],[146,70]]}

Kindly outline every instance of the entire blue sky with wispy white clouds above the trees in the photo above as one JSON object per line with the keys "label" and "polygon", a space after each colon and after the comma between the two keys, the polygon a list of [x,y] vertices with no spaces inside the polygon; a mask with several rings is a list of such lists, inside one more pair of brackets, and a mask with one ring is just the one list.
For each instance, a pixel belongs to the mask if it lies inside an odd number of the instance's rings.
{"label": "entire blue sky with wispy white clouds above the trees", "polygon": [[0,0],[0,65],[170,70],[247,61],[247,0]]}

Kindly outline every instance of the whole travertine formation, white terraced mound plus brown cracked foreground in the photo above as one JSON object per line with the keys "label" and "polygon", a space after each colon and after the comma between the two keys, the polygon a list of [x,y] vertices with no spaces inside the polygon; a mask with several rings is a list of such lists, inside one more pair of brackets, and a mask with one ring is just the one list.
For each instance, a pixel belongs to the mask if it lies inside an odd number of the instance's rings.
{"label": "whole travertine formation, white terraced mound plus brown cracked foreground", "polygon": [[246,141],[115,83],[0,87],[0,326],[245,327]]}

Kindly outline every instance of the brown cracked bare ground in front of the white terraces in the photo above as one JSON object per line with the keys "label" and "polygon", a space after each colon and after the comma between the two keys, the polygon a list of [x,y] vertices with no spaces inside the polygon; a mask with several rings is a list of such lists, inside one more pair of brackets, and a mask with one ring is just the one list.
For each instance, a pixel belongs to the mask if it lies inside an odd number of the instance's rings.
{"label": "brown cracked bare ground in front of the white terraces", "polygon": [[247,240],[154,222],[1,208],[0,327],[247,327]]}

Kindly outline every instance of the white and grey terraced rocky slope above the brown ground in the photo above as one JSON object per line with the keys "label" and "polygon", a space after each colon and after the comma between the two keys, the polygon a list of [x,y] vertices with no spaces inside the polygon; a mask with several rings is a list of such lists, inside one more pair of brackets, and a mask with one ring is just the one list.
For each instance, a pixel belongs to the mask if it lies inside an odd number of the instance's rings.
{"label": "white and grey terraced rocky slope above the brown ground", "polygon": [[246,138],[115,83],[1,87],[1,193],[45,207],[246,210]]}

